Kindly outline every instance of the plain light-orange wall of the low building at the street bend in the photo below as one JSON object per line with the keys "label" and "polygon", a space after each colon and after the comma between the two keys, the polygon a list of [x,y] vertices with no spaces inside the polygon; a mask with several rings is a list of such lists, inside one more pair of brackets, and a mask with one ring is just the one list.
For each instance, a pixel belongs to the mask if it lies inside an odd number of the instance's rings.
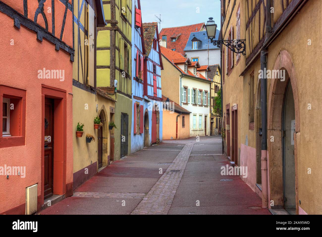
{"label": "plain light-orange wall of the low building at the street bend", "polygon": [[[176,117],[178,113],[172,111],[163,111],[162,122],[162,139],[169,140],[171,137],[175,139],[176,135]],[[185,116],[185,128],[182,127],[182,116]],[[178,117],[178,139],[190,137],[190,114],[183,114]]]}

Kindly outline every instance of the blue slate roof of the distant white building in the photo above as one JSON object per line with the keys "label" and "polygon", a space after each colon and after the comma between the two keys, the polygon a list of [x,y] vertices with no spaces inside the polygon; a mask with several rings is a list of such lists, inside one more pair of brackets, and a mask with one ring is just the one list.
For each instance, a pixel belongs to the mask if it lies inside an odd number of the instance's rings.
{"label": "blue slate roof of the distant white building", "polygon": [[[219,30],[216,30],[216,37],[215,40],[218,40],[219,37]],[[213,43],[210,43],[210,40],[208,39],[207,31],[199,31],[199,32],[191,32],[188,42],[185,45],[184,51],[194,51],[196,49],[192,49],[192,42],[195,40],[201,41],[201,44],[198,44],[197,50],[204,50],[204,49],[219,49],[218,45],[214,46]]]}

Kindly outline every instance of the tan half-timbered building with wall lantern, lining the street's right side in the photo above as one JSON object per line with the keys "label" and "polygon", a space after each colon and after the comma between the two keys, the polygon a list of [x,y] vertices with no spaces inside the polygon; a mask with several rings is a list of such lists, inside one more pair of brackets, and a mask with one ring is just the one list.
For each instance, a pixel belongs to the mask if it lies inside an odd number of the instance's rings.
{"label": "tan half-timbered building with wall lantern, lining the street's right side", "polygon": [[[246,55],[223,46],[225,154],[248,166],[243,180],[272,213],[321,214],[317,0],[224,0],[224,40],[246,39]],[[308,149],[310,144],[310,149]],[[279,212],[278,212],[279,211]]]}

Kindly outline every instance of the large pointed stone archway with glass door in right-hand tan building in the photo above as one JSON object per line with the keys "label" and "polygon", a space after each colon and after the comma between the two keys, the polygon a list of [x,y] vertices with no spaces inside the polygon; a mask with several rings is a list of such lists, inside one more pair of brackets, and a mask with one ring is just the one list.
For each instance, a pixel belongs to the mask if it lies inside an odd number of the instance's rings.
{"label": "large pointed stone archway with glass door in right-hand tan building", "polygon": [[295,67],[287,51],[280,52],[274,70],[285,70],[285,77],[274,78],[272,73],[269,92],[269,200],[274,201],[274,209],[298,213],[296,134],[300,132],[300,118]]}

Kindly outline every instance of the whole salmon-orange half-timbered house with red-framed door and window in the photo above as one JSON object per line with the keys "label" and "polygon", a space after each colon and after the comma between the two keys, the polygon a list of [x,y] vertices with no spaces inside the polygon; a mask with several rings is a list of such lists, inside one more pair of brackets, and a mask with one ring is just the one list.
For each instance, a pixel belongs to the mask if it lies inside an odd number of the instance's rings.
{"label": "whole salmon-orange half-timbered house with red-framed door and window", "polygon": [[0,1],[0,213],[73,194],[73,5]]}

